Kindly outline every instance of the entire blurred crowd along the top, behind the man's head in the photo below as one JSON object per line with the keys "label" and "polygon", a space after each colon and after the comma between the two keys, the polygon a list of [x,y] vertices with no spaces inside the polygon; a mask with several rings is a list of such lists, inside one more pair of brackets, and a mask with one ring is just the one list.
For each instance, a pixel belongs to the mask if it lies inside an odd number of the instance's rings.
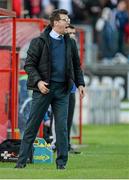
{"label": "entire blurred crowd along the top, behind the man's head", "polygon": [[[15,2],[18,1],[14,1],[14,7]],[[110,60],[118,53],[128,57],[128,48],[125,48],[129,41],[126,0],[24,0],[22,3],[24,17],[48,19],[54,9],[63,8],[68,10],[72,24],[91,25],[99,59]]]}

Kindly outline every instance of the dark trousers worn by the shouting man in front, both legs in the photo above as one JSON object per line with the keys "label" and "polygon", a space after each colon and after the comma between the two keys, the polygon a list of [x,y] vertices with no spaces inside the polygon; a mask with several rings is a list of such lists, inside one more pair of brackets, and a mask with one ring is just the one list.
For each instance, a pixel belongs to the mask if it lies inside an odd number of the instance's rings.
{"label": "dark trousers worn by the shouting man in front, both legs", "polygon": [[17,164],[26,164],[32,144],[36,138],[42,119],[48,110],[49,105],[55,118],[55,131],[57,142],[56,164],[66,165],[68,160],[68,134],[67,114],[69,93],[66,93],[64,83],[51,82],[50,92],[46,95],[40,92],[33,92],[32,107],[27,127],[21,142],[19,159]]}

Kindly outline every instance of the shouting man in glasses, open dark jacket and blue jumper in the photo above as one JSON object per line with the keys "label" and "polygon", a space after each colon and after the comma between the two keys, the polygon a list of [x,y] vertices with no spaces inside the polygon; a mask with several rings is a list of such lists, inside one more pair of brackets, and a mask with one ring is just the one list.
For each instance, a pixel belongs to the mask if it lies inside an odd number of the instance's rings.
{"label": "shouting man in glasses, open dark jacket and blue jumper", "polygon": [[33,90],[33,99],[16,168],[26,166],[42,118],[51,104],[57,142],[56,167],[65,169],[68,160],[68,100],[74,77],[81,97],[85,96],[76,43],[64,35],[69,23],[66,10],[54,10],[50,16],[50,25],[30,43],[25,71],[28,73],[28,89]]}

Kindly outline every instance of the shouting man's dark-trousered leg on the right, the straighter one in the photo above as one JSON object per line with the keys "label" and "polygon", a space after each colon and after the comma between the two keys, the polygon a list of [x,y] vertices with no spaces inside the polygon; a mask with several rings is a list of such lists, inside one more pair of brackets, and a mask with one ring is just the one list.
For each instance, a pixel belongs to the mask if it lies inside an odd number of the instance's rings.
{"label": "shouting man's dark-trousered leg on the right, the straighter one", "polygon": [[52,101],[52,110],[55,118],[57,166],[65,166],[68,160],[68,100],[69,94],[66,94],[64,87],[59,85]]}

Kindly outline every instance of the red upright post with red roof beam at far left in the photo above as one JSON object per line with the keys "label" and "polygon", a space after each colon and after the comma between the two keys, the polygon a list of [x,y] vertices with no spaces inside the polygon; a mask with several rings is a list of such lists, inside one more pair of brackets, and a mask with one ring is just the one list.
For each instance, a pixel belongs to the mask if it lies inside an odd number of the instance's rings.
{"label": "red upright post with red roof beam at far left", "polygon": [[[12,50],[12,65],[11,65],[11,124],[12,124],[12,137],[14,138],[14,123],[16,122],[16,89],[18,85],[15,84],[16,79],[16,69],[15,69],[15,62],[16,62],[16,13],[0,8],[0,16],[2,16],[2,21],[5,18],[5,24],[8,26],[8,20],[11,20],[10,26],[13,28],[10,29],[10,42],[11,42],[11,50]],[[9,19],[8,19],[9,18]],[[12,31],[11,31],[12,30]],[[8,34],[9,36],[9,34]],[[8,37],[6,36],[6,38]],[[0,43],[1,44],[1,43]],[[1,44],[2,45],[2,44]],[[7,45],[7,44],[6,44]],[[3,104],[4,105],[4,104]]]}

